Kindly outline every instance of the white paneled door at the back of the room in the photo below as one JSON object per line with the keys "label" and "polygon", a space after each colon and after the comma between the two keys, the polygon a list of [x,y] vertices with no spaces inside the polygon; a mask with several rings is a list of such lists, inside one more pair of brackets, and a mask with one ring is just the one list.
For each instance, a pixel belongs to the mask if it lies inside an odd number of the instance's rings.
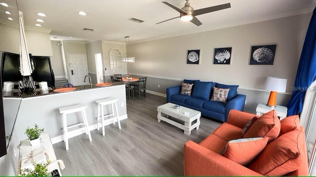
{"label": "white paneled door at the back of the room", "polygon": [[74,86],[87,85],[88,81],[83,82],[84,76],[88,73],[85,54],[68,54],[68,59],[71,69],[71,84]]}

